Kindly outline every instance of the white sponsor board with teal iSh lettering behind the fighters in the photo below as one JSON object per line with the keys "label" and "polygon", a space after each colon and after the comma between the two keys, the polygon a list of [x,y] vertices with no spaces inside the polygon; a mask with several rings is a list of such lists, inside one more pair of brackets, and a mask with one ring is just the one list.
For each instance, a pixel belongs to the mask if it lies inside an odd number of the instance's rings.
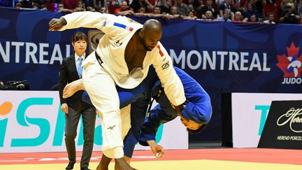
{"label": "white sponsor board with teal iSh lettering behind the fighters", "polygon": [[[96,118],[94,150],[101,150],[100,122]],[[59,92],[0,91],[0,153],[65,152],[64,125]],[[75,139],[78,151],[84,142],[81,129],[79,122]],[[159,131],[157,139],[165,149],[188,148],[188,134],[178,118]],[[138,149],[150,148],[137,145]]]}

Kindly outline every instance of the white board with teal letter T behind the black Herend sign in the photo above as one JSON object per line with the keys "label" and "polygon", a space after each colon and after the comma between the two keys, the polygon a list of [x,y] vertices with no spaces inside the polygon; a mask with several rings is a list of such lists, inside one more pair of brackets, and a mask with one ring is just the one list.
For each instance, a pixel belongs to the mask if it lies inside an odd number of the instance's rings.
{"label": "white board with teal letter T behind the black Herend sign", "polygon": [[232,93],[233,148],[257,148],[271,101],[302,100],[302,94]]}

